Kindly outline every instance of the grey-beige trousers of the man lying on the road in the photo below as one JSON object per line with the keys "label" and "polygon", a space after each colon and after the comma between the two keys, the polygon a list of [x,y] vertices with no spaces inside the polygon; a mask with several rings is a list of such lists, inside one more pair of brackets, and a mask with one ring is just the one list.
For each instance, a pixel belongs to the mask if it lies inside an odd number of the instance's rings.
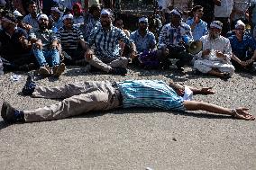
{"label": "grey-beige trousers of the man lying on the road", "polygon": [[108,81],[88,81],[57,87],[37,86],[33,97],[63,99],[34,111],[23,111],[26,122],[51,121],[90,111],[107,111],[120,106],[118,91]]}

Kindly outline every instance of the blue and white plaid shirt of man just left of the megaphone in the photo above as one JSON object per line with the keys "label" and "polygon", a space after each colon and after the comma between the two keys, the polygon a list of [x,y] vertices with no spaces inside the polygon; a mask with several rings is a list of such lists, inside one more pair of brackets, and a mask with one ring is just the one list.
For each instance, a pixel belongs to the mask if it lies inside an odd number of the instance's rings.
{"label": "blue and white plaid shirt of man just left of the megaphone", "polygon": [[186,23],[180,22],[178,28],[168,23],[164,25],[160,31],[159,48],[169,45],[178,45],[180,41],[183,41],[182,38],[185,35],[193,40],[191,29]]}

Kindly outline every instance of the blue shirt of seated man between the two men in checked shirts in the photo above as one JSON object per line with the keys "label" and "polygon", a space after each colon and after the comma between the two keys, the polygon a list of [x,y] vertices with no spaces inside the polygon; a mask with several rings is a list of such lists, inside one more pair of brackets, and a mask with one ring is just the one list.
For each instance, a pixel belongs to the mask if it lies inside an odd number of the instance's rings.
{"label": "blue shirt of seated man between the two men in checked shirts", "polygon": [[130,39],[134,41],[139,53],[154,49],[156,46],[156,38],[151,31],[147,31],[144,37],[142,37],[138,30],[133,31]]}

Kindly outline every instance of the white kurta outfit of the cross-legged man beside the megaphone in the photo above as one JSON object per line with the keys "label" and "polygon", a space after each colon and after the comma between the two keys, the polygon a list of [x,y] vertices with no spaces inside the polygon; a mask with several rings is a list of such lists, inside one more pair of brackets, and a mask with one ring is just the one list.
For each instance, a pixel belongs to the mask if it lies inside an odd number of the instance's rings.
{"label": "white kurta outfit of the cross-legged man beside the megaphone", "polygon": [[[227,72],[232,76],[234,67],[230,61],[232,55],[230,41],[223,36],[210,40],[209,35],[203,36],[200,40],[203,42],[203,50],[211,49],[211,53],[202,58],[202,51],[199,52],[194,67],[202,73],[208,73],[213,68],[217,68],[220,72]],[[215,55],[217,50],[223,52],[225,58],[217,58]]]}

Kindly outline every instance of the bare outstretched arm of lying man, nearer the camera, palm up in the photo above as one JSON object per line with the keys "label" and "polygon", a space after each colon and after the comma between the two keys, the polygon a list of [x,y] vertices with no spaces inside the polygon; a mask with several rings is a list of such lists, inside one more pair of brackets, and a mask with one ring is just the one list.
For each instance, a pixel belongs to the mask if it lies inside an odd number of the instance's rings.
{"label": "bare outstretched arm of lying man, nearer the camera, palm up", "polygon": [[228,109],[212,103],[197,102],[197,101],[184,101],[183,102],[187,111],[206,111],[215,112],[220,114],[231,115],[237,119],[253,121],[255,117],[251,115],[247,108],[239,107],[237,109]]}

